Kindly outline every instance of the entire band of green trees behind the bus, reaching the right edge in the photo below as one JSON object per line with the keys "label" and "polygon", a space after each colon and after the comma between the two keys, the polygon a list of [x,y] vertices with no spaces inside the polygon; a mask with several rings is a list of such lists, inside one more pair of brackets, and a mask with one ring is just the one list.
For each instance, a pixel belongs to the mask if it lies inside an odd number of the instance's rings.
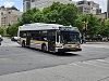
{"label": "entire band of green trees behind the bus, reaching the right edge", "polygon": [[[109,37],[109,19],[99,21],[93,14],[90,15],[77,15],[77,6],[75,4],[63,4],[60,2],[53,2],[52,5],[44,8],[41,11],[34,8],[23,13],[22,18],[16,24],[10,25],[7,32],[10,36],[16,36],[17,28],[24,24],[31,23],[53,23],[62,24],[66,26],[76,26],[83,33],[84,22],[88,22],[86,33],[89,36],[101,35]],[[3,29],[0,28],[0,33]]]}

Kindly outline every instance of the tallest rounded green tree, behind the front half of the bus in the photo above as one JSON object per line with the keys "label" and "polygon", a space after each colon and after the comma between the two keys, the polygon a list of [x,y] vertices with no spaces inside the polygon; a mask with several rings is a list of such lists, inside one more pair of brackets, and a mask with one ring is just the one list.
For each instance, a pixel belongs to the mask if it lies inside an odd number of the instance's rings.
{"label": "tallest rounded green tree, behind the front half of the bus", "polygon": [[63,4],[53,2],[52,5],[43,10],[47,23],[56,23],[62,25],[75,25],[77,8],[74,4]]}

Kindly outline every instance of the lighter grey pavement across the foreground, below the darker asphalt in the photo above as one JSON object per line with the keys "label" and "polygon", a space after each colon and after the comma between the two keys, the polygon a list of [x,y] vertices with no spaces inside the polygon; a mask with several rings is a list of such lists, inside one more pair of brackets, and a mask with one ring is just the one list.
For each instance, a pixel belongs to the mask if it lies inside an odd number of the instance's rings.
{"label": "lighter grey pavement across the foreground, below the darker asphalt", "polygon": [[109,58],[4,75],[0,81],[109,81]]}

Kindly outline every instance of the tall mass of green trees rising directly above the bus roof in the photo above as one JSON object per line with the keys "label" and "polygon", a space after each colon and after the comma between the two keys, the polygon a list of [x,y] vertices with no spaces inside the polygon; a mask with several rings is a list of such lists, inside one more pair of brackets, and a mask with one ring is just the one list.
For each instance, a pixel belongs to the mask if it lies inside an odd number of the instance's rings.
{"label": "tall mass of green trees rising directly above the bus roof", "polygon": [[76,15],[77,8],[75,4],[53,2],[52,5],[44,8],[43,11],[36,8],[27,10],[19,22],[20,24],[56,23],[75,26]]}

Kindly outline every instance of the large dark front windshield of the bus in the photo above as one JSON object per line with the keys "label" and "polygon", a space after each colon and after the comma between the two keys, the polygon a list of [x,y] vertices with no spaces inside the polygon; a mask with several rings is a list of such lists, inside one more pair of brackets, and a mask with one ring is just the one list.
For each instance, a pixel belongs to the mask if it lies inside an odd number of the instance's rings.
{"label": "large dark front windshield of the bus", "polygon": [[80,43],[80,33],[74,31],[61,31],[61,43]]}

